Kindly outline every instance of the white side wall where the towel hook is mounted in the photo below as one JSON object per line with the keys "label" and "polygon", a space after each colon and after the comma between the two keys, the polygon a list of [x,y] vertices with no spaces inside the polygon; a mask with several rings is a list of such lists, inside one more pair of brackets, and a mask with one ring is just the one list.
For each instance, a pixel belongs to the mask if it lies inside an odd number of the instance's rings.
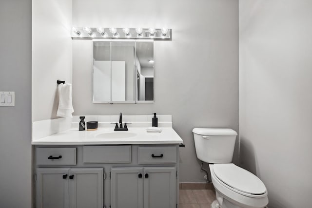
{"label": "white side wall where the towel hook is mounted", "polygon": [[32,120],[55,118],[57,80],[72,82],[72,0],[32,0]]}

